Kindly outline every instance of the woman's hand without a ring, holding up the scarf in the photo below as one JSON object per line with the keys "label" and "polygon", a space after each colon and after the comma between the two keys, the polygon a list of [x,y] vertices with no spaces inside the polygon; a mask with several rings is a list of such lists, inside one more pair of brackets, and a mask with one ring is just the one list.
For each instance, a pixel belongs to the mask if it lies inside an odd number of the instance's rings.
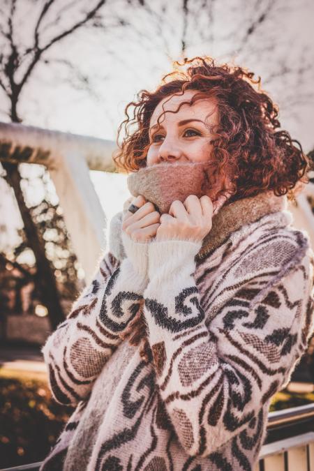
{"label": "woman's hand without a ring, holding up the scarf", "polygon": [[156,241],[181,239],[202,241],[211,230],[214,206],[208,196],[189,195],[184,203],[172,202],[169,214],[160,216]]}

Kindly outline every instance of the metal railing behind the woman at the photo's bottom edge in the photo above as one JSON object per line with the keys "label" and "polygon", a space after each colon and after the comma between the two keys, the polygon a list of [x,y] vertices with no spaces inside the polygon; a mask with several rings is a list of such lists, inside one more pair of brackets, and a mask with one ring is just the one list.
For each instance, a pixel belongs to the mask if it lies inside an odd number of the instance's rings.
{"label": "metal railing behind the woman at the photo's bottom edge", "polygon": [[[38,471],[40,465],[0,471]],[[269,412],[267,439],[254,471],[314,471],[314,404]]]}

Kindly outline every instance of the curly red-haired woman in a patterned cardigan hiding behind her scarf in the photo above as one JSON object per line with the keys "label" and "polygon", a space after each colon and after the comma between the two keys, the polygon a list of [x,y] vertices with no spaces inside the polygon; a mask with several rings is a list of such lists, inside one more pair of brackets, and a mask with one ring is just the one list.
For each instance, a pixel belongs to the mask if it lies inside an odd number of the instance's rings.
{"label": "curly red-haired woman in a patterned cardigan hiding behind her scarf", "polygon": [[313,257],[286,210],[306,156],[252,73],[186,62],[127,107],[133,197],[43,347],[75,412],[42,470],[252,470],[306,350]]}

